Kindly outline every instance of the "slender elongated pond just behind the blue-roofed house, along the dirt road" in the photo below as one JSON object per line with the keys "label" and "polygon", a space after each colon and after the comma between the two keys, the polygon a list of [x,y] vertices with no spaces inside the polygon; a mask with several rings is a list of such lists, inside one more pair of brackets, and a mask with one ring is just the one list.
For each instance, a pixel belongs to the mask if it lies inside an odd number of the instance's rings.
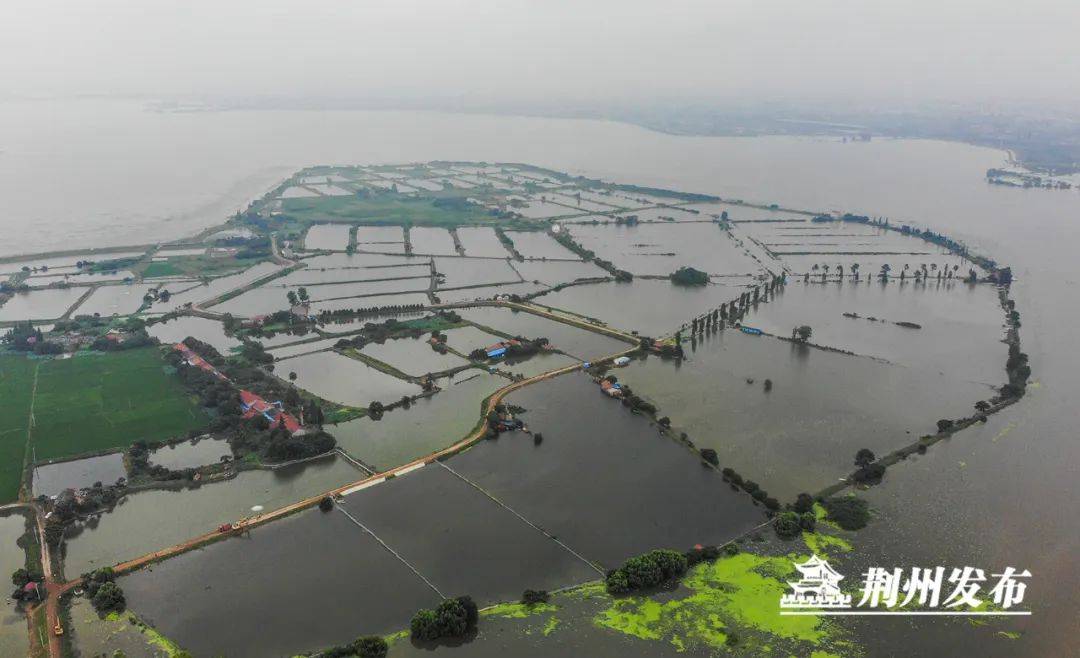
{"label": "slender elongated pond just behind the blue-roofed house, along the dirt road", "polygon": [[458,311],[463,319],[511,336],[546,338],[549,345],[582,361],[606,357],[632,347],[622,340],[548,320],[525,311],[504,308],[472,308]]}

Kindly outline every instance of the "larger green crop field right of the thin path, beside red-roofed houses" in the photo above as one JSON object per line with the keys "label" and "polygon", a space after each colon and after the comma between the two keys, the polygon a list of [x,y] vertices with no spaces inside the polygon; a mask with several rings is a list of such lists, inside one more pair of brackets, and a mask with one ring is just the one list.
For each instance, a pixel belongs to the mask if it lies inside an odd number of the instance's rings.
{"label": "larger green crop field right of the thin path, beside red-roofed houses", "polygon": [[207,422],[157,348],[41,362],[33,416],[39,461],[161,441]]}

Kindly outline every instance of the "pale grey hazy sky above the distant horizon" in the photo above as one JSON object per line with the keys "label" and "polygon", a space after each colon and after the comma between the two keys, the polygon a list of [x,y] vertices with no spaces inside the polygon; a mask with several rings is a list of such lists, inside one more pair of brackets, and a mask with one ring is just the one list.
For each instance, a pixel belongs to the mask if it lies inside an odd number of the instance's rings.
{"label": "pale grey hazy sky above the distant horizon", "polygon": [[1080,104],[1076,0],[0,0],[0,93]]}

